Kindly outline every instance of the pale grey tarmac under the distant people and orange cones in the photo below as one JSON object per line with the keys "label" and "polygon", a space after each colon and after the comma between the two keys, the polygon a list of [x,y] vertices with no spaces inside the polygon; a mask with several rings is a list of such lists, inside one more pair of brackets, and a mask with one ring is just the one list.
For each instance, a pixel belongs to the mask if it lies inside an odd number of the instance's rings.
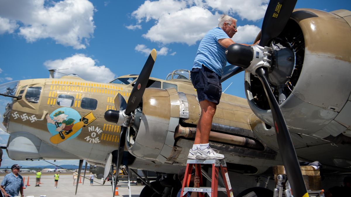
{"label": "pale grey tarmac under the distant people and orange cones", "polygon": [[[0,181],[4,179],[4,176],[8,173],[0,174]],[[57,184],[57,188],[54,187],[54,175],[53,174],[45,174],[41,175],[40,186],[35,186],[35,174],[21,174],[22,177],[25,178],[25,188],[23,190],[24,196],[28,197],[113,197],[112,195],[112,185],[111,182],[106,182],[102,185],[101,179],[94,178],[93,186],[90,186],[90,180],[87,179],[89,174],[86,174],[86,179],[84,181],[84,185],[82,183],[78,184],[77,195],[75,195],[75,186],[73,186],[73,174],[60,174],[60,178]],[[27,178],[29,176],[29,186],[27,185]],[[79,182],[79,180],[78,180]],[[81,178],[81,182],[83,182],[83,177]],[[118,194],[120,197],[129,197],[128,181],[120,181],[118,182]],[[131,183],[131,196],[139,197],[141,190],[143,190],[144,185],[136,185],[136,183]]]}

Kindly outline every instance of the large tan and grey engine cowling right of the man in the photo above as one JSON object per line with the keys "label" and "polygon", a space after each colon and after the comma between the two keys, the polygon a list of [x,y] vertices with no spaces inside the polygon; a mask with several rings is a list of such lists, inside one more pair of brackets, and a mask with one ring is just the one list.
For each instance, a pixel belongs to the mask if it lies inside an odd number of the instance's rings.
{"label": "large tan and grey engine cowling right of the man", "polygon": [[[343,17],[351,12],[333,13],[296,9],[272,41],[276,54],[272,55],[269,81],[293,133],[324,138],[350,132],[351,21]],[[283,49],[290,49],[294,56],[287,52],[279,55]],[[279,62],[288,58],[295,63],[282,70]],[[245,73],[245,90],[254,113],[273,125],[261,82],[249,72]]]}

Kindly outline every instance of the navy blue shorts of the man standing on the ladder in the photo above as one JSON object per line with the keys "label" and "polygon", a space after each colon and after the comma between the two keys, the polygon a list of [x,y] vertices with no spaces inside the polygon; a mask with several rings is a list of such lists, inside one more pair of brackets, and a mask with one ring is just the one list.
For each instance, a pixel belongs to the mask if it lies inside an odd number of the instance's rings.
{"label": "navy blue shorts of the man standing on the ladder", "polygon": [[218,105],[222,95],[220,77],[204,64],[202,68],[193,68],[190,76],[191,82],[197,91],[199,102],[207,100]]}

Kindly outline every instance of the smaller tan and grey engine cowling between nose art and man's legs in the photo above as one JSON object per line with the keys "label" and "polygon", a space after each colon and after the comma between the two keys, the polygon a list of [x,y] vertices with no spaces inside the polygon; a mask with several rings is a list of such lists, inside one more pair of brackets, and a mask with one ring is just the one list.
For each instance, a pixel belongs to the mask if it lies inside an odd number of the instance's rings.
{"label": "smaller tan and grey engine cowling between nose art and man's legs", "polygon": [[143,95],[143,113],[136,113],[134,119],[139,128],[130,127],[127,132],[128,151],[141,159],[165,163],[179,124],[179,104],[176,89],[147,88]]}

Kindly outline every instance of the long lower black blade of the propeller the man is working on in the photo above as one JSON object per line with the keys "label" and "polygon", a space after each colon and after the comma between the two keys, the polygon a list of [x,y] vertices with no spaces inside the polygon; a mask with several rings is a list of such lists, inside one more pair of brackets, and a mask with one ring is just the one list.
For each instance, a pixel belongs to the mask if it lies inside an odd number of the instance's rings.
{"label": "long lower black blade of the propeller the man is working on", "polygon": [[261,81],[269,105],[271,107],[274,128],[277,133],[279,152],[283,159],[286,175],[291,185],[292,194],[295,197],[308,197],[307,189],[297,160],[294,145],[292,144],[289,130],[286,127],[285,119],[275,99],[270,84],[268,82],[268,72],[261,67],[256,70],[256,74]]}

